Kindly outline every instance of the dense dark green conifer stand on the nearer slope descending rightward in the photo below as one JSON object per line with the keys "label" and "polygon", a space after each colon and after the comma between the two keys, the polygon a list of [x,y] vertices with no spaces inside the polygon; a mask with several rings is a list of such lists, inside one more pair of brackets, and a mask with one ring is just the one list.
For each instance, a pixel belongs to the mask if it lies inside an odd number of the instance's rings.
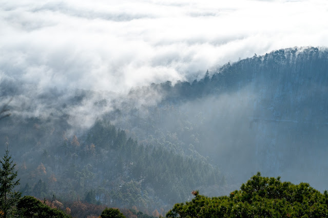
{"label": "dense dark green conifer stand on the nearer slope descending rightward", "polygon": [[[87,134],[87,140],[90,143],[98,142],[94,143],[96,150],[108,154],[98,153],[98,159],[90,159],[93,167],[111,166],[104,168],[105,173],[101,177],[109,181],[115,181],[118,177],[124,180],[120,187],[110,192],[113,206],[149,204],[150,194],[145,192],[148,187],[152,187],[152,198],[161,198],[173,204],[187,199],[188,189],[219,185],[222,180],[218,168],[205,160],[178,155],[159,146],[140,145],[131,138],[127,139],[124,130],[115,130],[113,125],[105,121],[98,120],[94,124]],[[75,172],[75,176],[78,175],[81,175],[80,171]]]}

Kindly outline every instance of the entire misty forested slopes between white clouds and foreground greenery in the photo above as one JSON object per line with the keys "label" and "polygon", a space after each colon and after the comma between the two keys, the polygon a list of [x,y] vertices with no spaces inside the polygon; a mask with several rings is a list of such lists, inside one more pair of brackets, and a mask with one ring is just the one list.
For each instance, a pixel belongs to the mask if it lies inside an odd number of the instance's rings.
{"label": "entire misty forested slopes between white clouds and foreground greenery", "polygon": [[105,206],[165,215],[192,190],[229,194],[256,171],[323,191],[327,70],[328,50],[291,48],[127,96],[53,88],[28,96],[3,80],[2,102],[12,100],[0,142],[23,195],[79,217]]}

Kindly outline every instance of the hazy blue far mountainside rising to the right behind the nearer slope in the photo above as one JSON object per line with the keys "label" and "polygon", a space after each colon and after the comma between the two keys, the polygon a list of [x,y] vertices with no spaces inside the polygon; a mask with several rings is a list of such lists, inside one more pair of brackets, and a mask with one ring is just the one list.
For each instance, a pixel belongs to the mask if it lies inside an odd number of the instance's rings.
{"label": "hazy blue far mountainside rising to the right behind the nearer slope", "polygon": [[154,90],[161,100],[140,110],[125,102],[111,118],[139,141],[208,156],[228,184],[261,171],[324,190],[327,72],[325,48],[282,49],[227,63],[199,81],[131,91],[131,99]]}

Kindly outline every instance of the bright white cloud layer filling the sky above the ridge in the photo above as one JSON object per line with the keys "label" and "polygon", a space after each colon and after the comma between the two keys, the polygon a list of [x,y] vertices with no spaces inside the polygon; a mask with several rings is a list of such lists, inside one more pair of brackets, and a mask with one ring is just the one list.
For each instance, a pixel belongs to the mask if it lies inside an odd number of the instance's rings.
{"label": "bright white cloud layer filling the sky above the ridge", "polygon": [[0,82],[127,91],[227,61],[328,45],[328,3],[0,0]]}

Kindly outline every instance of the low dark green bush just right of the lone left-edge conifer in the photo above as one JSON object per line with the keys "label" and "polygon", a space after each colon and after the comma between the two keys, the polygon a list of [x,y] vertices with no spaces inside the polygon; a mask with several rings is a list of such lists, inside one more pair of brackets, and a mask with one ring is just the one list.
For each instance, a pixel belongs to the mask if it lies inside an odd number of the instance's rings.
{"label": "low dark green bush just right of the lone left-edge conifer", "polygon": [[24,217],[71,217],[64,212],[51,208],[32,196],[24,196],[17,204]]}

